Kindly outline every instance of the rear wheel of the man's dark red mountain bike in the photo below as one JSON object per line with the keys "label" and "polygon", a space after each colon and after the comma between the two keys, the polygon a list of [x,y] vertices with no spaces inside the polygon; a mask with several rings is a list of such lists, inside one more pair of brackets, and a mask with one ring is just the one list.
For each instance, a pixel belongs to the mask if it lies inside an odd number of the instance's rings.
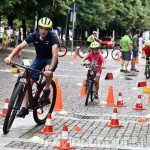
{"label": "rear wheel of the man's dark red mountain bike", "polygon": [[[42,83],[42,89],[44,88],[44,86],[46,85],[46,82],[44,81]],[[41,105],[39,108],[33,110],[33,118],[34,121],[37,124],[44,124],[47,118],[48,113],[52,113],[54,106],[55,106],[55,102],[56,102],[56,85],[55,82],[52,80],[51,84],[50,84],[50,95],[49,95],[49,100],[50,103],[45,102],[45,104]],[[40,96],[39,99],[41,98],[43,91],[40,91]]]}

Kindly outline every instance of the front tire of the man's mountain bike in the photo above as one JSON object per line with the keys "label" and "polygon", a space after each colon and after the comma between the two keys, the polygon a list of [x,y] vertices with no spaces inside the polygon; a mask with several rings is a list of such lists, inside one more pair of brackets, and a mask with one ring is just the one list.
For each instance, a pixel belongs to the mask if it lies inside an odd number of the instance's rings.
{"label": "front tire of the man's mountain bike", "polygon": [[14,122],[17,111],[20,109],[22,101],[24,99],[26,90],[25,84],[19,82],[15,87],[13,94],[10,98],[10,103],[8,106],[8,111],[4,120],[3,132],[7,134]]}

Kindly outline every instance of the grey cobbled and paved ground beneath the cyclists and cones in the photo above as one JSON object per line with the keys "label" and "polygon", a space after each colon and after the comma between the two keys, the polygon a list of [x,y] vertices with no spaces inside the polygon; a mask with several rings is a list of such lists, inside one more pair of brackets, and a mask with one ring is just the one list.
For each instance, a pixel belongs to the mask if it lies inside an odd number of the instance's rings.
{"label": "grey cobbled and paved ground beneath the cyclists and cones", "polygon": [[[0,110],[2,111],[4,100],[10,98],[12,88],[17,79],[16,74],[11,73],[11,67],[3,62],[10,50],[0,51]],[[33,60],[35,53],[26,49],[22,56],[28,56]],[[21,58],[14,58],[15,62],[22,63]],[[84,106],[85,97],[80,97],[82,81],[86,77],[87,69],[80,66],[81,59],[73,59],[73,56],[59,58],[59,65],[54,77],[58,77],[62,89],[64,112],[55,111],[52,115],[52,122],[56,135],[41,135],[38,133],[44,125],[37,126],[33,120],[32,112],[25,118],[17,118],[7,135],[3,135],[2,126],[4,117],[0,117],[0,149],[21,150],[39,149],[52,150],[54,145],[59,144],[62,126],[68,125],[71,145],[77,146],[77,150],[117,150],[117,149],[150,149],[150,103],[146,102],[148,95],[142,93],[138,82],[145,79],[144,60],[140,59],[137,68],[140,73],[136,76],[126,76],[120,73],[120,63],[109,58],[106,60],[107,69],[103,70],[100,80],[100,102],[90,103]],[[5,70],[7,68],[7,70]],[[113,73],[113,80],[105,80],[107,73]],[[126,80],[129,77],[131,80]],[[113,86],[115,103],[117,95],[122,92],[124,104],[127,107],[118,108],[118,119],[122,128],[109,128],[106,124],[111,120],[114,107],[106,105],[108,90]],[[132,108],[137,102],[138,94],[142,94],[142,102],[147,109],[135,111]],[[138,119],[145,119],[144,124],[138,123]],[[72,130],[74,126],[80,126],[82,131]]]}

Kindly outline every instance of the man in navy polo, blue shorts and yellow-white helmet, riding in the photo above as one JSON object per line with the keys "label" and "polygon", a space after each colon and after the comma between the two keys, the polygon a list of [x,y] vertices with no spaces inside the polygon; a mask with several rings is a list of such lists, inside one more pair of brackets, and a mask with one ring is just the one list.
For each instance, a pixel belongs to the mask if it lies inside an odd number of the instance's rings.
{"label": "man in navy polo, blue shorts and yellow-white helmet, riding", "polygon": [[[32,33],[27,36],[27,38],[19,44],[8,57],[4,59],[5,63],[11,64],[12,58],[18,54],[25,46],[29,43],[33,43],[36,50],[36,58],[31,64],[30,68],[42,71],[43,67],[45,69],[44,76],[46,78],[46,86],[43,90],[43,95],[40,99],[42,101],[49,101],[48,96],[50,94],[50,83],[53,77],[53,71],[57,68],[58,64],[58,44],[59,41],[57,37],[50,32],[52,28],[52,21],[43,17],[38,22],[39,29],[38,31]],[[30,71],[33,78],[36,80],[39,79],[39,74]],[[30,79],[31,85],[33,85],[33,80]],[[23,105],[19,113],[18,117],[25,117],[28,112],[28,91],[26,92]]]}

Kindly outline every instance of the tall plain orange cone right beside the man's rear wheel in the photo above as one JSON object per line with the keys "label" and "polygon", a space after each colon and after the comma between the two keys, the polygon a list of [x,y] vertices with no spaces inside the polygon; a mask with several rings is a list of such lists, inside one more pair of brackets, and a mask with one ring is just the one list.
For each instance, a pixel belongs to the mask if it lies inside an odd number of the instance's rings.
{"label": "tall plain orange cone right beside the man's rear wheel", "polygon": [[60,87],[57,86],[57,96],[56,96],[56,102],[54,106],[54,110],[62,110],[62,93]]}

